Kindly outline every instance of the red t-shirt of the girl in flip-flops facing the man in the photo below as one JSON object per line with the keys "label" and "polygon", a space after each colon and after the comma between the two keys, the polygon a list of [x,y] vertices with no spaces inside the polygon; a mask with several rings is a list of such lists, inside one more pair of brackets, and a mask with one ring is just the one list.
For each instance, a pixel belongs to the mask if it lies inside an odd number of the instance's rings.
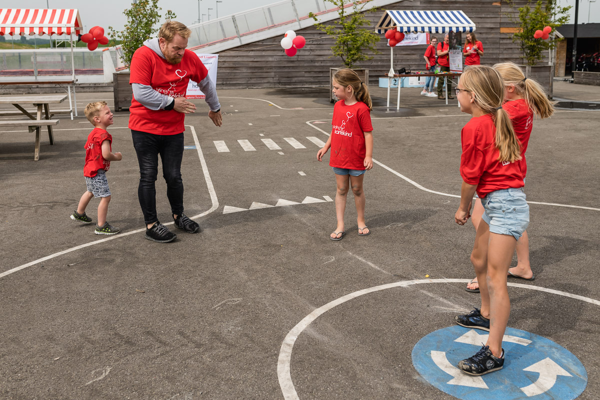
{"label": "red t-shirt of the girl in flip-flops facing the man", "polygon": [[346,106],[344,100],[335,103],[331,124],[331,155],[329,166],[350,170],[365,169],[365,132],[373,130],[367,104],[358,101]]}

